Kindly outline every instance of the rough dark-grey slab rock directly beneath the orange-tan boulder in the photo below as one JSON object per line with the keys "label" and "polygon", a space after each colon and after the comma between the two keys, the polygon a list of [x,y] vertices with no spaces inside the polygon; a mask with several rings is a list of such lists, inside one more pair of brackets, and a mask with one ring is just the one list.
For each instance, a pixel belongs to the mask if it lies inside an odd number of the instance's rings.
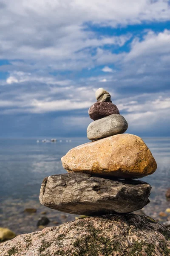
{"label": "rough dark-grey slab rock directly beneath the orange-tan boulder", "polygon": [[142,181],[118,181],[68,173],[46,177],[40,203],[61,212],[88,216],[133,212],[150,201],[151,186]]}

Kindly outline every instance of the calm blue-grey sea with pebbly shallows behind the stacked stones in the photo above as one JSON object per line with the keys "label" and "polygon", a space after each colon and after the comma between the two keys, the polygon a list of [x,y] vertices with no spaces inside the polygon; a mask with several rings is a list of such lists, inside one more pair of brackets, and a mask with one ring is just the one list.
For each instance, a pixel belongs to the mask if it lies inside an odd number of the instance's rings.
{"label": "calm blue-grey sea with pebbly shallows behind the stacked stones", "polygon": [[[162,223],[170,218],[167,210],[170,201],[165,197],[170,188],[170,137],[142,139],[158,164],[153,175],[141,179],[152,186],[150,204],[142,211]],[[42,227],[37,227],[37,221],[42,216],[49,218],[48,226],[56,226],[78,217],[42,206],[39,192],[44,177],[66,173],[61,157],[71,148],[87,143],[88,140],[42,140],[44,138],[0,139],[0,227],[8,227],[16,234],[40,230]],[[26,208],[34,208],[36,212],[27,213],[24,211]]]}

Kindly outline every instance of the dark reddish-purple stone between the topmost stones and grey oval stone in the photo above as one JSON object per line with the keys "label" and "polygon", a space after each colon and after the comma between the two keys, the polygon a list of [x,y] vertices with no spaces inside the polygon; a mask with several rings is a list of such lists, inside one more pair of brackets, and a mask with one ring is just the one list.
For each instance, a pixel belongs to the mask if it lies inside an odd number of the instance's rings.
{"label": "dark reddish-purple stone between the topmost stones and grey oval stone", "polygon": [[91,119],[98,120],[113,114],[120,114],[119,109],[111,102],[96,102],[88,110]]}

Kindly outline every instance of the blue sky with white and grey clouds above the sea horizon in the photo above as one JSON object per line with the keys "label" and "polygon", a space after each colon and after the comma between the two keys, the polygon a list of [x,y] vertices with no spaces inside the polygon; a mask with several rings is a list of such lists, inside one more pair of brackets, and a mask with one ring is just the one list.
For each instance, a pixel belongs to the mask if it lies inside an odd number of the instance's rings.
{"label": "blue sky with white and grey clouds above the sea horizon", "polygon": [[99,87],[169,136],[169,0],[0,0],[0,137],[85,137]]}

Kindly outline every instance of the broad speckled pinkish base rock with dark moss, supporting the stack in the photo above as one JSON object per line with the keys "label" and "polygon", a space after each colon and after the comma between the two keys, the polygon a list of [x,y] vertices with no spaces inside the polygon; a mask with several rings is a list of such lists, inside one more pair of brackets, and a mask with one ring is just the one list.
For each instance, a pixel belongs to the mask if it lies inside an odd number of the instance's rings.
{"label": "broad speckled pinkish base rock with dark moss, supporting the stack", "polygon": [[150,217],[88,217],[0,244],[0,256],[169,256],[170,231]]}

